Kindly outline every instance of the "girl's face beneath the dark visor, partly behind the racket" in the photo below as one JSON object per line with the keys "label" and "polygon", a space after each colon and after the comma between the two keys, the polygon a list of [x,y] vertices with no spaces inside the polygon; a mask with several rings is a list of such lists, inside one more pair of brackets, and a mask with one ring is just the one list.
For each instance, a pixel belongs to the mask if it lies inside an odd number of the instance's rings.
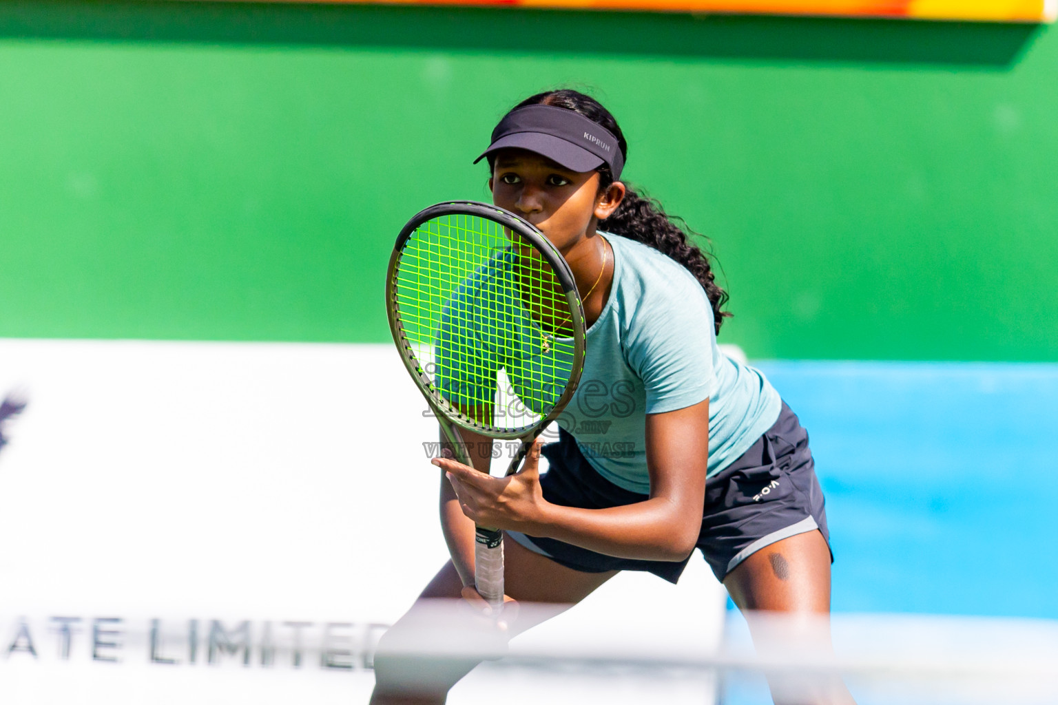
{"label": "girl's face beneath the dark visor, partly behind the racket", "polygon": [[494,204],[535,225],[563,254],[595,233],[624,197],[620,183],[600,193],[598,171],[570,171],[524,149],[496,154],[489,188]]}

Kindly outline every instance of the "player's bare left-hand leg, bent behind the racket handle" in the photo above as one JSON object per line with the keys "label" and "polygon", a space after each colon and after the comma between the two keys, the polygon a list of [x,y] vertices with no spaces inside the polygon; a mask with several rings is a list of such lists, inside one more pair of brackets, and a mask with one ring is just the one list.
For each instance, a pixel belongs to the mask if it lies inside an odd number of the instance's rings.
{"label": "player's bare left-hand leg, bent behind the racket handle", "polygon": [[[526,611],[518,612],[514,623],[509,626],[511,636],[565,611],[617,575],[616,571],[582,573],[565,568],[507,538],[504,540],[504,581],[507,594],[522,602],[554,606],[553,612],[548,611],[546,614],[535,610],[531,614],[527,614]],[[445,662],[432,660],[431,663],[426,663],[424,660],[386,656],[384,653],[387,637],[399,638],[404,630],[415,629],[417,608],[422,608],[422,600],[455,599],[460,596],[461,590],[462,581],[455,567],[449,561],[422,591],[419,601],[382,637],[379,654],[375,660],[375,692],[371,694],[371,705],[443,703],[449,689],[477,665],[478,662],[468,660]],[[468,615],[468,619],[471,618],[473,617]],[[430,681],[433,683],[425,691],[422,689],[409,691],[406,685],[402,685],[408,672],[421,674],[424,669],[430,669]]]}

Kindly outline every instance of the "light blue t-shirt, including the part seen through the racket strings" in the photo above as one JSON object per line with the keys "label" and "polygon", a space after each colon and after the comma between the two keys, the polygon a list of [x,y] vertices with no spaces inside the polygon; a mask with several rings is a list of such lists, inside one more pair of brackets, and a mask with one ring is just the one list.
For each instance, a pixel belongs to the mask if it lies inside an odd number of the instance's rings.
{"label": "light blue t-shirt, including the part seen through the racket strings", "polygon": [[[614,484],[647,494],[647,413],[709,404],[709,469],[719,472],[745,452],[779,418],[778,392],[758,370],[741,365],[716,347],[709,297],[687,268],[657,249],[616,235],[602,234],[614,253],[609,299],[586,336],[584,371],[559,425],[577,439],[587,461]],[[437,340],[438,382],[453,400],[491,400],[500,369],[517,390],[539,387],[550,376],[564,379],[571,359],[554,351],[541,366],[541,333],[515,300],[509,262],[500,256],[460,286],[448,307]],[[504,328],[513,326],[525,350],[492,350],[498,336],[475,321],[472,311],[486,302],[507,311]],[[492,364],[468,374],[461,358],[473,352]],[[561,392],[559,384],[558,391]]]}

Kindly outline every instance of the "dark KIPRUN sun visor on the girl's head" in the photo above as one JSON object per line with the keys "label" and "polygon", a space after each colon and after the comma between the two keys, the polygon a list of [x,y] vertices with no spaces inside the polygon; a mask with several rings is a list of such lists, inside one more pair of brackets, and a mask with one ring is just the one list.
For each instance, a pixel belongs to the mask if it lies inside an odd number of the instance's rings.
{"label": "dark KIPRUN sun visor on the girl's head", "polygon": [[591,171],[607,164],[614,181],[624,168],[624,155],[609,130],[554,106],[526,106],[507,113],[492,131],[492,144],[474,164],[500,149],[527,149],[570,171]]}

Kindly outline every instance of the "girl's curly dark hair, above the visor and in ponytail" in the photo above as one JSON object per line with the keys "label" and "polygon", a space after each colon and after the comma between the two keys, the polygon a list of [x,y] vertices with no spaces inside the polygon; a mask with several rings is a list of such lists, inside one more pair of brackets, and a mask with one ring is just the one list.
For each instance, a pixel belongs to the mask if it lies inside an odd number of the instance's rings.
{"label": "girl's curly dark hair, above the visor and in ponytail", "polygon": [[[624,133],[621,132],[610,112],[590,95],[571,89],[545,91],[529,96],[511,110],[534,105],[572,110],[603,126],[617,137],[621,153],[627,162],[628,143],[624,140]],[[600,189],[605,189],[614,183],[609,165],[603,164],[597,170]],[[694,238],[704,239],[704,236],[690,229],[682,218],[665,214],[664,208],[655,199],[636,192],[627,182],[622,183],[625,185],[624,200],[609,218],[599,223],[599,226],[607,233],[650,245],[687,267],[706,290],[709,302],[713,307],[713,322],[716,332],[719,333],[720,323],[731,315],[723,310],[728,294],[716,283],[709,257],[693,241]]]}

